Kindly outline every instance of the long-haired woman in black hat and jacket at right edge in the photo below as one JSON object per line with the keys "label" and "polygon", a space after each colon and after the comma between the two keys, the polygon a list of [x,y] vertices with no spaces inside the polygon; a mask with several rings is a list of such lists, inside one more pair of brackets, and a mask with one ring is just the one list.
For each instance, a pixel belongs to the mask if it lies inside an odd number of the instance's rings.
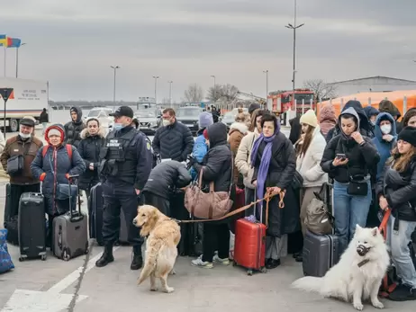
{"label": "long-haired woman in black hat and jacket at right edge", "polygon": [[411,233],[416,227],[416,128],[403,128],[376,188],[381,209],[392,209],[387,245],[401,283],[389,295],[394,301],[416,300],[416,270],[411,261]]}

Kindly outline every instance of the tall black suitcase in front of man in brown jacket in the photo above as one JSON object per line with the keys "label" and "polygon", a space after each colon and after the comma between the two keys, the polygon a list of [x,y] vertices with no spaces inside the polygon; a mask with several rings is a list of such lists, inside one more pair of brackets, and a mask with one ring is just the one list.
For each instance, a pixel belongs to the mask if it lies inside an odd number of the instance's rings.
{"label": "tall black suitcase in front of man in brown jacket", "polygon": [[19,201],[19,261],[41,257],[46,260],[45,203],[39,192],[23,192]]}

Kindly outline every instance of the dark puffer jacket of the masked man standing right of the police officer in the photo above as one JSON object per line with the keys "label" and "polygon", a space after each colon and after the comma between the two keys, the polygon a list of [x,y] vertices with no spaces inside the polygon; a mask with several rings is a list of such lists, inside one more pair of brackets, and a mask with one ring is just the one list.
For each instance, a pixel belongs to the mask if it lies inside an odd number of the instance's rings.
{"label": "dark puffer jacket of the masked man standing right of the police officer", "polygon": [[170,126],[159,128],[152,143],[153,151],[162,159],[170,158],[183,162],[192,153],[194,137],[183,123],[175,122]]}

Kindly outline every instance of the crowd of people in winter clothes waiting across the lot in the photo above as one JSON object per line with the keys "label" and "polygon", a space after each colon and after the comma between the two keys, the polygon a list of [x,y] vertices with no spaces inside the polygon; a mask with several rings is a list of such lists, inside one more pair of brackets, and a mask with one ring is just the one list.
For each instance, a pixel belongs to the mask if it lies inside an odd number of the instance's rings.
{"label": "crowd of people in winter clothes waiting across the lot", "polygon": [[[34,120],[24,118],[19,134],[6,141],[0,160],[6,172],[14,156],[24,160],[21,171],[9,173],[13,213],[18,213],[23,192],[41,191],[50,225],[53,218],[71,209],[69,201],[57,199],[56,184],[68,183],[69,176],[80,174],[79,187],[90,196],[91,188],[102,183],[104,253],[97,267],[114,261],[113,245],[123,210],[132,245],[131,270],[140,269],[143,238],[132,225],[138,204],[152,204],[170,216],[177,209],[170,207],[173,192],[200,175],[205,192],[210,183],[214,192],[238,188],[244,190],[246,204],[261,200],[267,192],[285,191],[285,208],[279,209],[279,199],[274,197],[268,219],[260,220],[268,224],[266,267],[277,268],[287,254],[302,262],[306,209],[321,185],[330,182],[341,252],[357,225],[377,226],[379,210],[392,209],[387,244],[402,282],[391,299],[416,299],[410,245],[416,228],[416,109],[398,121],[401,114],[389,101],[380,103],[378,110],[349,101],[338,118],[328,105],[321,108],[319,117],[310,110],[291,120],[291,134],[286,138],[280,120],[252,104],[248,112],[238,112],[230,129],[218,122],[216,112],[203,111],[194,140],[169,108],[163,111],[163,126],[151,145],[137,129],[129,107],[114,111],[115,124],[107,136],[99,120],[83,122],[77,108],[71,108],[70,114],[65,126],[45,129],[46,149],[34,135]],[[152,152],[162,160],[153,169]],[[76,201],[72,202],[74,209]],[[265,207],[258,205],[258,209]],[[249,209],[246,215],[266,215],[258,209]],[[227,219],[204,223],[203,253],[192,265],[229,264],[230,228]],[[49,231],[49,242],[51,235]]]}

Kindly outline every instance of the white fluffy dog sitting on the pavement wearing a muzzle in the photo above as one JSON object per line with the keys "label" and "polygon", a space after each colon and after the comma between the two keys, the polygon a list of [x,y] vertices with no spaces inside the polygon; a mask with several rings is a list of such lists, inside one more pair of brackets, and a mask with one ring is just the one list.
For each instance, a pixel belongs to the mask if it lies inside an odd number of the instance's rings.
{"label": "white fluffy dog sitting on the pavement wearing a muzzle", "polygon": [[298,290],[314,291],[326,298],[351,302],[361,311],[362,300],[370,299],[375,308],[384,308],[378,299],[378,290],[390,264],[384,237],[377,227],[357,226],[356,233],[339,263],[325,276],[303,277],[292,283]]}

